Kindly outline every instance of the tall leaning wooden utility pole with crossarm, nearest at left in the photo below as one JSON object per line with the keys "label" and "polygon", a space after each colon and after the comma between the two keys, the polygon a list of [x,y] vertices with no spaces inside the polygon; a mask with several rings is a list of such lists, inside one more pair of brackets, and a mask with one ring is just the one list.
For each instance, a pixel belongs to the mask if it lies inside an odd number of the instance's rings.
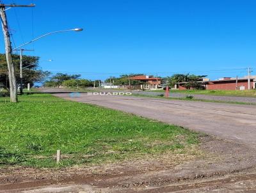
{"label": "tall leaning wooden utility pole with crossarm, nearest at left", "polygon": [[6,6],[9,7],[33,7],[34,4],[31,5],[17,5],[17,4],[0,4],[0,17],[1,23],[3,27],[3,35],[4,35],[4,45],[5,45],[5,54],[6,54],[6,62],[8,65],[8,75],[9,75],[9,84],[10,84],[10,101],[18,102],[17,98],[17,81],[15,77],[15,68],[12,63],[12,45],[10,41],[10,33],[8,29],[8,23],[6,19]]}

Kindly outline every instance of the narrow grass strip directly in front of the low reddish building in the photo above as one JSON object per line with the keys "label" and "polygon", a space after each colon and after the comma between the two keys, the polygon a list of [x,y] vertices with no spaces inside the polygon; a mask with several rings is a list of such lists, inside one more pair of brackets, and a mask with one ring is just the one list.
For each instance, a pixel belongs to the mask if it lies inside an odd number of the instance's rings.
{"label": "narrow grass strip directly in front of the low reddish building", "polygon": [[[157,90],[155,92],[165,92],[164,90]],[[248,96],[256,97],[256,89],[244,91],[225,91],[225,90],[170,90],[170,93],[188,93],[199,95],[218,95],[218,96]]]}

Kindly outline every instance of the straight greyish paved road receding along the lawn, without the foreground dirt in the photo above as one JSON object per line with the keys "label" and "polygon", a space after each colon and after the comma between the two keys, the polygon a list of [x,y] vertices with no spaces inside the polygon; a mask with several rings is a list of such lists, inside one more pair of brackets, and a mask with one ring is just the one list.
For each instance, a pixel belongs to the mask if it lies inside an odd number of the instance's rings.
{"label": "straight greyish paved road receding along the lawn, without the foreground dirt", "polygon": [[70,97],[69,93],[54,95],[77,102],[131,112],[256,147],[255,105],[172,101],[136,96],[92,96],[87,93],[81,93],[79,97]]}

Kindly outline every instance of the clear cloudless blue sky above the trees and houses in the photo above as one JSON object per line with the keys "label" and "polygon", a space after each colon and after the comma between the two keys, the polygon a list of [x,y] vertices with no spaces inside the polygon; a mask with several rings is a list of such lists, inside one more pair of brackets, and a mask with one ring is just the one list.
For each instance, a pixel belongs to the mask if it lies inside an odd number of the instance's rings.
{"label": "clear cloudless blue sky above the trees and houses", "polygon": [[[241,68],[256,67],[253,0],[3,2],[36,4],[6,11],[15,45],[51,31],[85,29],[24,47],[35,49],[27,54],[40,56],[43,70],[83,72],[88,79],[131,72],[162,76],[190,72],[217,79],[243,77],[246,70]],[[3,38],[0,45],[4,52]]]}

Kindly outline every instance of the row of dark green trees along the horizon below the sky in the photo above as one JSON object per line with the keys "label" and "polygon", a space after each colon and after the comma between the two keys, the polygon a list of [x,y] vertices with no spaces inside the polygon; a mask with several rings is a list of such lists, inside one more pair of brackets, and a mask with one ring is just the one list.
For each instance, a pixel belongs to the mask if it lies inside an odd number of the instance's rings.
{"label": "row of dark green trees along the horizon below the sky", "polygon": [[[18,54],[13,54],[13,63],[15,65],[15,75],[17,77],[17,82],[19,85],[19,73],[20,73],[20,56]],[[44,86],[46,87],[66,87],[66,88],[87,88],[87,87],[98,87],[102,82],[106,82],[111,85],[118,86],[140,86],[141,84],[145,84],[143,81],[132,80],[131,77],[137,75],[144,75],[143,73],[130,73],[123,74],[119,77],[109,77],[104,81],[96,80],[92,81],[89,79],[81,79],[81,75],[74,74],[69,75],[67,73],[56,73],[55,75],[51,75],[51,72],[44,71],[40,69],[39,66],[39,57],[37,56],[23,56],[23,83],[24,86],[28,83],[33,86],[35,82],[44,82]],[[206,75],[193,75],[193,74],[182,74],[177,73],[170,77],[159,77],[162,79],[162,82],[168,84],[171,88],[174,87],[178,82],[186,82],[184,83],[184,87],[190,89],[203,89],[202,79],[204,79]],[[48,78],[47,81],[45,81]],[[8,81],[8,69],[5,54],[0,54],[0,89],[9,88]]]}

